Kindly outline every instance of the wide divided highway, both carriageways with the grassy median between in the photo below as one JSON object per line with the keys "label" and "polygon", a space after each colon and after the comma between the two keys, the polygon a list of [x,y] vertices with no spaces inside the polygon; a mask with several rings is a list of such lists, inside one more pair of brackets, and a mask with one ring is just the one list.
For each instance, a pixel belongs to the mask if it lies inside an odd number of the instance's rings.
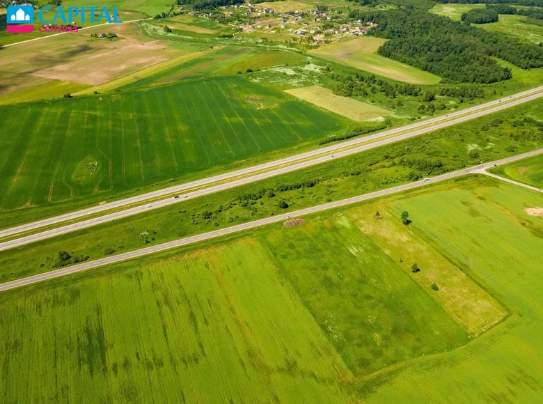
{"label": "wide divided highway, both carriageways with the grassy median between", "polygon": [[[162,208],[164,206],[172,205],[173,203],[178,203],[181,201],[186,201],[187,199],[196,198],[198,196],[212,194],[214,192],[223,191],[225,189],[230,189],[233,187],[239,187],[240,185],[246,185],[251,182],[264,180],[266,178],[271,178],[284,173],[289,173],[291,171],[305,169],[315,164],[329,162],[331,160],[360,153],[365,150],[385,146],[387,144],[402,141],[404,139],[409,139],[411,137],[420,136],[421,134],[433,132],[434,130],[439,130],[443,127],[457,125],[458,123],[469,121],[473,118],[492,114],[494,112],[501,111],[502,109],[514,107],[515,105],[522,104],[530,100],[536,100],[537,98],[540,98],[542,96],[543,86],[540,86],[537,88],[532,88],[528,91],[524,91],[522,93],[510,95],[507,98],[487,102],[476,107],[464,109],[462,111],[456,111],[446,116],[438,116],[436,118],[432,118],[426,121],[398,127],[393,130],[378,132],[369,136],[344,141],[338,144],[334,144],[332,146],[326,146],[324,148],[311,150],[306,153],[300,153],[298,155],[285,157],[279,160],[274,160],[272,162],[258,164],[256,166],[239,169],[237,171],[231,171],[229,173],[223,173],[218,176],[212,176],[209,178],[203,178],[201,180],[195,180],[192,182],[175,185],[173,187],[159,189],[154,192],[148,192],[146,194],[132,196],[130,198],[121,199],[119,201],[103,203],[102,205],[96,205],[92,208],[86,208],[83,210],[66,213],[64,215],[50,217],[48,219],[42,219],[38,222],[32,222],[12,228],[6,228],[0,230],[0,238],[17,235],[18,233],[23,233],[25,231],[34,231],[37,228],[60,224],[61,222],[79,219],[88,215],[96,215],[97,213],[106,212],[107,210],[123,208],[127,205],[145,203],[145,201],[149,199],[156,199],[165,196],[165,199],[152,203],[138,205],[132,208],[126,208],[124,210],[102,215],[100,217],[86,219],[81,222],[53,228],[33,235],[26,235],[21,238],[17,238],[16,240],[6,241],[0,243],[0,251],[13,247],[19,247],[21,245],[36,242],[38,240],[45,240],[56,235],[62,235],[70,233],[72,231],[81,230],[83,228],[88,228],[97,224],[111,222],[111,220],[136,215],[142,212],[148,212],[150,210]],[[213,185],[217,182],[219,183]],[[190,189],[193,189],[195,187],[203,188],[195,191],[190,191]],[[178,198],[171,196],[171,194],[178,192],[186,193]],[[166,197],[166,195],[169,196]]]}

